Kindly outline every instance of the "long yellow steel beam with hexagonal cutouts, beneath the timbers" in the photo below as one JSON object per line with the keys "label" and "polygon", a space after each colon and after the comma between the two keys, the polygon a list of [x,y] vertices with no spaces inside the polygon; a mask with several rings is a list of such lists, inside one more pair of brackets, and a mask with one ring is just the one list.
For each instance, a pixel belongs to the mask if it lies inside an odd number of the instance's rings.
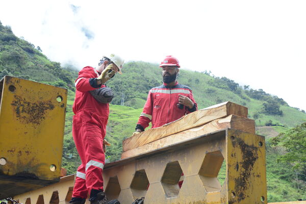
{"label": "long yellow steel beam with hexagonal cutouts, beneath the timbers", "polygon": [[[220,184],[217,176],[223,162],[225,181]],[[106,164],[103,177],[106,194],[121,204],[140,197],[146,204],[266,204],[265,138],[225,129]],[[52,203],[50,195],[56,192],[62,197],[59,202],[67,203],[70,193],[67,188],[61,193],[57,185],[14,199]],[[72,185],[71,180],[68,186]]]}

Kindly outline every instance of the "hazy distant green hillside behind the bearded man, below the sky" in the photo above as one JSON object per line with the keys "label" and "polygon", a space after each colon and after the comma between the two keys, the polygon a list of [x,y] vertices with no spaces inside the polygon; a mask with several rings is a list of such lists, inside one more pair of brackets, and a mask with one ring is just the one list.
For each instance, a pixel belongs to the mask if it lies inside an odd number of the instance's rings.
{"label": "hazy distant green hillside behind the bearded man, below the sky", "polygon": [[[183,69],[180,73],[178,81],[192,89],[199,109],[230,100],[248,107],[248,116],[256,119],[257,126],[270,123],[268,124],[270,126],[293,127],[306,118],[304,111],[289,107],[282,98],[272,96],[263,90],[244,90],[230,79],[215,78],[208,73]],[[112,104],[120,105],[121,95],[124,93],[125,105],[133,108],[143,107],[149,89],[162,84],[161,74],[161,68],[157,64],[145,62],[125,64],[123,75],[117,74],[108,83],[116,93]]]}

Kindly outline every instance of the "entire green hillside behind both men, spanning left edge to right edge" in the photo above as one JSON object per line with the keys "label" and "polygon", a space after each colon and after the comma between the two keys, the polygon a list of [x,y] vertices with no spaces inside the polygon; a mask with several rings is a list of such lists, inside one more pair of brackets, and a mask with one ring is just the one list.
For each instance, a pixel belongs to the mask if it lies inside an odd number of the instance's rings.
{"label": "entire green hillside behind both men, spanning left edge to right edge", "polygon": [[[122,140],[135,131],[149,89],[162,84],[161,69],[157,64],[129,62],[124,65],[122,72],[122,75],[116,74],[108,83],[116,95],[110,106],[107,126],[106,138],[112,144],[106,153],[108,161],[120,158]],[[39,46],[17,38],[10,27],[3,26],[0,22],[0,78],[6,74],[68,89],[63,167],[68,173],[74,173],[80,164],[71,134],[74,80],[78,76],[78,70],[69,65],[63,67],[58,62],[49,61]],[[267,141],[268,138],[275,137],[277,133],[301,124],[306,119],[303,110],[289,107],[282,98],[272,96],[261,89],[240,87],[227,78],[182,69],[178,80],[193,90],[199,109],[228,100],[248,107],[249,118],[256,120],[257,133],[267,136]],[[122,93],[125,106],[120,106]],[[284,148],[271,147],[267,142],[269,202],[306,199],[306,179],[294,174],[292,164],[284,165],[276,161],[284,151]],[[299,182],[299,185],[294,181]]]}

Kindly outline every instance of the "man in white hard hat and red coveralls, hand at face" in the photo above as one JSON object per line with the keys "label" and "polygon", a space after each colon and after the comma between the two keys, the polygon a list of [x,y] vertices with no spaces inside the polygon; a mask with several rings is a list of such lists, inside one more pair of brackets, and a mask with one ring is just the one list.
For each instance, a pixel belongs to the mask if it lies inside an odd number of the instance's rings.
{"label": "man in white hard hat and red coveralls, hand at face", "polygon": [[77,170],[70,203],[83,204],[90,194],[91,204],[119,204],[118,200],[107,200],[103,192],[103,167],[105,152],[103,140],[109,117],[109,104],[99,103],[91,90],[106,87],[106,82],[115,72],[121,73],[124,60],[111,54],[104,56],[98,68],[84,67],[75,80],[72,135],[82,164]]}

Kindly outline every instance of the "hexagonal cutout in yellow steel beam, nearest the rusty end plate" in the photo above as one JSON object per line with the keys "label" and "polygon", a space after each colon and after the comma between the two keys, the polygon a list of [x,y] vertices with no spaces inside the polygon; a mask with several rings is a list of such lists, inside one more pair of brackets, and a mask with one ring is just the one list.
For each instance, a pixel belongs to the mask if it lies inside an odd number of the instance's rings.
{"label": "hexagonal cutout in yellow steel beam, nearest the rusty end plate", "polygon": [[209,152],[205,155],[199,175],[207,192],[221,190],[218,174],[223,161],[221,151]]}

